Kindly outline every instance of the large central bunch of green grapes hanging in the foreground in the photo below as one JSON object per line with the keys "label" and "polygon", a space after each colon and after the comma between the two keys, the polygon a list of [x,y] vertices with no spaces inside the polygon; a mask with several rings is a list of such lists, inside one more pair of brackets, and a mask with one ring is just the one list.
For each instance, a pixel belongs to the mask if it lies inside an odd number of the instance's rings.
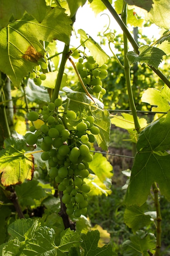
{"label": "large central bunch of green grapes hanging in the foreground", "polygon": [[[68,130],[59,115],[60,106],[61,99],[43,106],[44,124],[40,129],[31,126],[25,138],[29,145],[42,139],[41,148],[44,152],[41,158],[49,162],[49,176],[59,184],[58,190],[63,193],[62,202],[66,204],[66,213],[74,214],[78,218],[87,211],[90,186],[84,178],[89,175],[88,163],[93,160],[90,153],[91,144],[95,141],[94,135],[99,134],[99,128],[94,125],[94,117],[87,116],[74,130]],[[64,115],[67,123],[77,118],[73,110],[68,110]],[[36,121],[38,118],[37,112],[29,112],[30,121]]]}

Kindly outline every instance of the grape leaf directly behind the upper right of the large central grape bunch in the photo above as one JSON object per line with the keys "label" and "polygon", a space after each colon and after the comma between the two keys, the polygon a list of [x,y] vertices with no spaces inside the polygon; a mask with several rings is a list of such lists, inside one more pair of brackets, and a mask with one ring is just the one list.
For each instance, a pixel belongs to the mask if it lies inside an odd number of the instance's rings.
{"label": "grape leaf directly behind the upper right of the large central grape bunch", "polygon": [[[103,149],[108,150],[110,141],[110,117],[108,110],[102,110],[102,108],[96,108],[95,105],[91,105],[91,99],[85,93],[70,93],[68,96],[71,101],[69,108],[77,113],[77,119],[75,121],[69,121],[70,128],[77,126],[79,119],[86,119],[88,115],[92,115],[95,118],[94,125],[99,128],[99,134],[94,135],[97,144]],[[98,107],[103,106],[97,101]],[[69,125],[69,124],[68,124]]]}

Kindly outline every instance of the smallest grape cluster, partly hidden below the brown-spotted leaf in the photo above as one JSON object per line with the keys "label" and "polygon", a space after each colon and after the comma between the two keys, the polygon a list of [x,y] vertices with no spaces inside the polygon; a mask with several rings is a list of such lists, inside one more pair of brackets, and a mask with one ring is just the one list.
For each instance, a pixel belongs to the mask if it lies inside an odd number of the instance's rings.
{"label": "smallest grape cluster, partly hidden below the brown-spotted leaf", "polygon": [[48,60],[45,55],[42,61],[38,61],[38,64],[39,65],[33,68],[33,72],[29,74],[29,77],[33,79],[35,85],[40,86],[42,81],[46,79],[46,74],[44,74],[42,70],[46,70],[48,67]]}

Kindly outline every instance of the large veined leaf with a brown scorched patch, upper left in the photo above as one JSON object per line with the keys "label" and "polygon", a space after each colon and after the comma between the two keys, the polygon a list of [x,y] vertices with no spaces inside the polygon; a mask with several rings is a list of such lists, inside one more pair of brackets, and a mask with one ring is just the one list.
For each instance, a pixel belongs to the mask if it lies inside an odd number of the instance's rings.
{"label": "large veined leaf with a brown scorched patch, upper left", "polygon": [[70,24],[71,19],[60,7],[49,7],[41,23],[28,14],[11,22],[0,31],[0,70],[18,87],[22,78],[44,56],[39,40],[52,42],[57,39],[68,45],[72,30]]}

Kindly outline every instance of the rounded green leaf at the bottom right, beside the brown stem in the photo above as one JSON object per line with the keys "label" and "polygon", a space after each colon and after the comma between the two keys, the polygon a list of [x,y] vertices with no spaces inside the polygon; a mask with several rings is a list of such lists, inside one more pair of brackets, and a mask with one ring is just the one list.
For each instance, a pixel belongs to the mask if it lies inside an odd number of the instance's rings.
{"label": "rounded green leaf at the bottom right, beside the brown stem", "polygon": [[155,236],[151,233],[145,234],[144,231],[137,231],[136,234],[130,235],[130,240],[123,243],[124,256],[147,256],[148,250],[154,253]]}

